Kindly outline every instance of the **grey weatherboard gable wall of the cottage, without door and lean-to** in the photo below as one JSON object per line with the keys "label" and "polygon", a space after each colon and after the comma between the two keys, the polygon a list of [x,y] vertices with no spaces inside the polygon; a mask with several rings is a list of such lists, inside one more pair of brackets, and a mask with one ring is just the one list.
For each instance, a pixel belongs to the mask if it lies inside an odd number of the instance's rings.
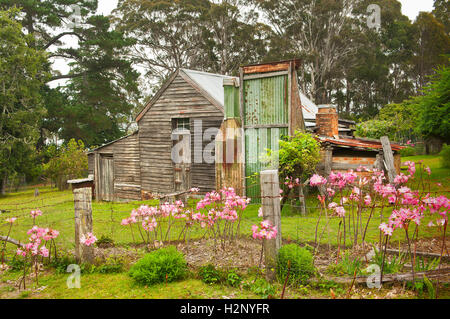
{"label": "grey weatherboard gable wall of the cottage, without door and lean-to", "polygon": [[[219,128],[223,120],[221,110],[194,88],[185,77],[181,74],[176,75],[138,122],[143,192],[167,194],[175,189],[174,163],[171,158],[173,119],[191,119],[191,134],[194,119],[202,120],[203,131],[211,127]],[[202,142],[203,145],[205,143]],[[214,163],[193,163],[191,177],[191,187],[200,187],[201,191],[214,189]]]}

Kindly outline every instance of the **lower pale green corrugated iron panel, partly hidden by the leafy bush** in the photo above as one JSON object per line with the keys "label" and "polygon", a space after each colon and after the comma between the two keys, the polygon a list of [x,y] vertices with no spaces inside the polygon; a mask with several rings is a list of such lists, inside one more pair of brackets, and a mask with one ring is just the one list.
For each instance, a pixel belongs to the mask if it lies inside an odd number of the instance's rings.
{"label": "lower pale green corrugated iron panel, partly hidden by the leafy bush", "polygon": [[[245,176],[246,196],[252,199],[252,203],[261,202],[260,176],[261,170],[266,169],[261,161],[261,155],[266,149],[278,150],[278,143],[282,135],[288,133],[287,128],[260,128],[247,129],[245,132]],[[256,177],[248,178],[258,173]]]}

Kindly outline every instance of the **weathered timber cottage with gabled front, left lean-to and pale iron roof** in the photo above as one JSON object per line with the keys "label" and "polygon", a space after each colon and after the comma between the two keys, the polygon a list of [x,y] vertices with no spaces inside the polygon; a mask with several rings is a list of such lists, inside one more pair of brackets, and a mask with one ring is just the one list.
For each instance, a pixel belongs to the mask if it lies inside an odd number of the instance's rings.
{"label": "weathered timber cottage with gabled front, left lean-to and pale iron roof", "polygon": [[[89,153],[96,198],[140,200],[191,185],[201,192],[214,189],[214,160],[196,157],[214,146],[224,118],[223,81],[229,79],[237,78],[187,69],[174,72],[137,116],[137,132]],[[194,133],[202,140],[196,141]],[[176,165],[172,149],[181,140],[191,144],[191,163],[186,152],[184,165]],[[214,147],[209,148],[214,153]]]}

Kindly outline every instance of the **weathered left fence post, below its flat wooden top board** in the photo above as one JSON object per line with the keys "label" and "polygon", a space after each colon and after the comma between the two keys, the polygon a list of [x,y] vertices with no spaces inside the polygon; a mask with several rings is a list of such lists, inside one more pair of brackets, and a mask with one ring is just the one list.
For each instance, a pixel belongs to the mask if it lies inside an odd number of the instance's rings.
{"label": "weathered left fence post, below its flat wooden top board", "polygon": [[78,262],[94,262],[94,247],[80,242],[83,236],[92,233],[92,188],[73,190],[75,203],[75,257]]}

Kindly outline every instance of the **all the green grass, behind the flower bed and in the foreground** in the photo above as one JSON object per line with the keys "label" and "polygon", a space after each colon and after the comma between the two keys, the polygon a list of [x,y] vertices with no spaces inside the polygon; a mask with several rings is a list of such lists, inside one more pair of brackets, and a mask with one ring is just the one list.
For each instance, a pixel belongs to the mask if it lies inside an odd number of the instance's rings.
{"label": "all the green grass, behind the flower bed and in the foreground", "polygon": [[[429,166],[432,170],[430,176],[431,181],[425,184],[417,185],[417,182],[412,182],[410,187],[417,189],[429,190],[438,192],[438,194],[445,194],[448,196],[450,190],[450,169],[440,167],[439,156],[414,156],[402,159],[404,161],[423,161],[423,165]],[[417,168],[419,173],[419,167]],[[441,185],[437,185],[437,184]],[[27,239],[26,231],[33,225],[33,220],[29,213],[33,209],[41,209],[43,216],[37,217],[36,224],[41,227],[51,227],[60,231],[60,236],[57,239],[58,248],[65,251],[73,250],[74,248],[74,203],[71,191],[60,192],[54,188],[41,187],[39,188],[40,196],[34,197],[34,189],[21,191],[18,193],[11,193],[0,197],[0,235],[6,236],[9,231],[9,225],[4,223],[4,220],[9,217],[18,217],[18,220],[13,225],[10,237],[25,241]],[[434,196],[434,195],[433,195]],[[140,205],[157,205],[157,201],[142,201],[132,203],[106,203],[93,202],[93,225],[94,234],[97,238],[102,236],[114,240],[116,246],[129,247],[133,244],[133,237],[129,227],[121,226],[121,220],[128,217],[131,210],[138,208]],[[193,201],[189,205],[195,205]],[[296,205],[294,203],[294,205]],[[317,194],[310,193],[307,199],[307,206],[312,207],[308,209],[307,216],[301,216],[295,206],[286,205],[282,212],[281,228],[283,238],[286,240],[296,240],[299,242],[314,242],[316,236],[316,225],[319,217]],[[258,217],[259,205],[249,205],[243,214],[241,223],[241,233],[243,236],[250,237],[251,226],[260,222]],[[381,220],[386,221],[391,213],[391,208],[385,208],[383,211],[384,218],[380,217],[380,209],[376,209],[373,217],[367,228],[366,238],[369,242],[377,243],[379,240],[378,226]],[[349,214],[350,216],[350,214]],[[369,212],[363,213],[362,226],[365,227],[366,221],[369,218]],[[424,218],[422,225],[427,225],[430,217]],[[337,234],[340,229],[340,218],[330,218],[328,221],[329,231],[322,230],[327,224],[327,219],[322,216],[318,226],[318,237],[321,238],[321,243],[330,243],[337,245]],[[348,223],[353,223],[348,220]],[[347,224],[348,225],[348,224]],[[359,226],[361,229],[361,226]],[[178,234],[181,232],[182,224],[179,223],[172,228],[171,240],[177,240]],[[341,227],[342,230],[342,227]],[[410,236],[414,227],[410,227]],[[440,235],[438,228],[420,227],[420,237],[436,237]],[[204,230],[194,228],[191,231],[190,238],[198,239],[204,235]],[[347,233],[347,235],[350,235]],[[135,228],[134,236],[140,239]],[[402,231],[394,232],[391,239],[392,242],[404,241],[405,234]],[[347,238],[347,245],[351,243],[353,237]],[[360,240],[360,237],[359,237]],[[142,242],[141,240],[139,240]],[[15,247],[7,245],[8,254],[14,254]],[[3,274],[0,278],[0,298],[222,298],[227,296],[230,298],[257,298],[254,292],[248,289],[231,288],[222,285],[206,285],[196,278],[188,278],[180,282],[170,283],[166,285],[155,285],[152,287],[136,286],[132,283],[126,273],[117,274],[83,274],[82,285],[83,289],[67,289],[66,280],[67,274],[57,274],[52,271],[44,273],[40,276],[40,284],[47,288],[40,292],[24,292],[17,293],[8,280],[17,279],[20,273],[8,272]],[[277,286],[277,293],[281,291],[282,287]],[[329,288],[321,290],[309,291],[308,297],[312,295],[318,297],[328,297]],[[337,287],[333,290],[336,292]],[[299,293],[298,290],[289,292],[291,297],[302,298],[304,294]]]}

